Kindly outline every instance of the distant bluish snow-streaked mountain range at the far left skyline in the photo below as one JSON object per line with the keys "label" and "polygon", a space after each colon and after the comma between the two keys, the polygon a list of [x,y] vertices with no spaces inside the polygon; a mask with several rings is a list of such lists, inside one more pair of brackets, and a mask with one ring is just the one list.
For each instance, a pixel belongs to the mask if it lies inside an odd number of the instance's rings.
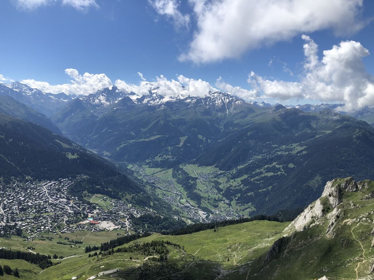
{"label": "distant bluish snow-streaked mountain range at the far left skyline", "polygon": [[11,96],[46,116],[52,115],[72,100],[71,96],[65,93],[45,93],[19,82],[0,84],[0,95]]}

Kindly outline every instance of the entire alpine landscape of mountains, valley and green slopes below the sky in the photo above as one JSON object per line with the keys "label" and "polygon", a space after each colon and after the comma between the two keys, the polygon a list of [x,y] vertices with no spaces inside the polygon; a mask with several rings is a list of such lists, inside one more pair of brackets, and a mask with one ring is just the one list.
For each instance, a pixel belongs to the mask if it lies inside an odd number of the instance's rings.
{"label": "entire alpine landscape of mountains, valley and green slopes below the sky", "polygon": [[0,84],[0,279],[373,279],[373,108],[149,86]]}

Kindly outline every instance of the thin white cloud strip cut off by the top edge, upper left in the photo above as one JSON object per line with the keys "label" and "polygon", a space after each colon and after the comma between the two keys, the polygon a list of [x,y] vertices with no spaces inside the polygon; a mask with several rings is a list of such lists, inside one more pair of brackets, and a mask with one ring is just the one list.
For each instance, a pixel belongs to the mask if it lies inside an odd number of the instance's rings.
{"label": "thin white cloud strip cut off by the top edge, upper left", "polygon": [[[54,4],[61,0],[13,0],[16,6],[21,10],[35,10],[40,6]],[[62,0],[62,5],[72,6],[77,10],[86,11],[90,7],[99,8],[95,0]]]}

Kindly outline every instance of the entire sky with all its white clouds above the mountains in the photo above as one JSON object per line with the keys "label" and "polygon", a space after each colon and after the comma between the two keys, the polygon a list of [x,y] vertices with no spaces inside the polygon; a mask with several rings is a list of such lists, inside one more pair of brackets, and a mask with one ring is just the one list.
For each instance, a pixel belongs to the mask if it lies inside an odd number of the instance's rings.
{"label": "entire sky with all its white clouds above the mountains", "polygon": [[0,82],[361,108],[373,18],[371,0],[2,0]]}

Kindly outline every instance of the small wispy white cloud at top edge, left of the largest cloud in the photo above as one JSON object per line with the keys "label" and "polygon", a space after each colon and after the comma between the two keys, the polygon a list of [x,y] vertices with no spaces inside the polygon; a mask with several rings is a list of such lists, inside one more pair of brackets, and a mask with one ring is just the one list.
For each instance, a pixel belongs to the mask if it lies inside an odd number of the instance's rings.
{"label": "small wispy white cloud at top edge, left of the largest cloud", "polygon": [[151,6],[156,10],[159,15],[166,16],[168,19],[172,19],[176,27],[188,27],[190,22],[189,15],[183,15],[178,6],[180,1],[178,0],[148,0]]}

